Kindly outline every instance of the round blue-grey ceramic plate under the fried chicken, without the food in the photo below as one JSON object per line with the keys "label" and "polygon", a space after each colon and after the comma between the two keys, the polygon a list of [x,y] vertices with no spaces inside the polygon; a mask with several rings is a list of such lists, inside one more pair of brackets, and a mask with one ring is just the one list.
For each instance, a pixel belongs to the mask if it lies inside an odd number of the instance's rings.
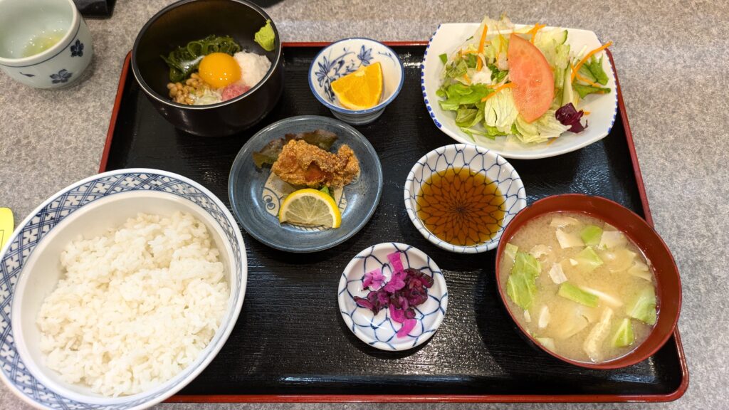
{"label": "round blue-grey ceramic plate under the fried chicken, without the food", "polygon": [[[253,163],[252,153],[273,139],[317,129],[331,131],[339,137],[332,152],[347,144],[359,159],[359,177],[343,190],[346,207],[337,229],[316,230],[278,223],[276,214],[284,196],[275,187],[271,189],[271,182],[267,183],[270,168],[256,169]],[[286,118],[258,131],[238,152],[228,179],[230,204],[243,228],[258,241],[288,252],[316,252],[351,238],[375,213],[381,194],[382,166],[372,144],[351,126],[314,115]],[[335,200],[342,209],[344,202],[340,198]]]}

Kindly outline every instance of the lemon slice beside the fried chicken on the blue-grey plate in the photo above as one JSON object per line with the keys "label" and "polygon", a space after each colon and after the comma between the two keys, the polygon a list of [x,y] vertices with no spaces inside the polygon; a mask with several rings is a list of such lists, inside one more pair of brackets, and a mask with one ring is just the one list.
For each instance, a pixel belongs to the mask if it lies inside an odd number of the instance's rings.
{"label": "lemon slice beside the fried chicken on the blue-grey plate", "polygon": [[342,214],[331,196],[306,188],[286,196],[281,210],[278,211],[278,222],[339,228]]}

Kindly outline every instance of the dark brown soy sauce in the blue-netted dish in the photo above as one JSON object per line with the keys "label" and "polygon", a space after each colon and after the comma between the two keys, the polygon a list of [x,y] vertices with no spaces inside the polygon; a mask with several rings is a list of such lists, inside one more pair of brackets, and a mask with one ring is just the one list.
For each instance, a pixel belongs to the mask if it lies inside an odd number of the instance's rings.
{"label": "dark brown soy sauce in the blue-netted dish", "polygon": [[504,220],[499,185],[469,168],[432,174],[416,196],[418,218],[433,235],[456,246],[491,240]]}

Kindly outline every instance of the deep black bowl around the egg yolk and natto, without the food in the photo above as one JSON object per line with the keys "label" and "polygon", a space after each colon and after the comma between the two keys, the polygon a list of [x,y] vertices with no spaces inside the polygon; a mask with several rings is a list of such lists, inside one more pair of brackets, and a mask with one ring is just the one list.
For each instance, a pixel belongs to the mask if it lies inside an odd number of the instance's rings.
{"label": "deep black bowl around the egg yolk and natto, without the food", "polygon": [[[132,49],[134,78],[152,105],[172,125],[197,136],[227,136],[258,123],[276,106],[284,89],[281,36],[265,51],[253,41],[266,20],[263,9],[245,0],[182,0],[157,12],[139,31]],[[169,68],[160,58],[178,46],[215,34],[232,36],[241,49],[271,62],[265,77],[246,93],[218,104],[190,106],[168,96]]]}

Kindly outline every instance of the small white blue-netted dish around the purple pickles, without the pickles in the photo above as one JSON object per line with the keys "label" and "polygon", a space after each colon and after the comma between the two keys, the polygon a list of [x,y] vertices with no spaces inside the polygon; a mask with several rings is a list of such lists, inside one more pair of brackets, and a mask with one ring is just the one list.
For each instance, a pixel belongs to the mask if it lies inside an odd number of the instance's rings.
{"label": "small white blue-netted dish around the purple pickles, without the pickles", "polygon": [[[433,280],[435,282],[435,285],[437,285],[437,288],[440,289],[440,294],[438,297],[435,295],[432,295],[429,293],[429,298],[433,298],[437,300],[438,306],[437,309],[434,310],[434,312],[431,312],[429,314],[436,314],[436,319],[432,323],[432,325],[425,329],[423,333],[421,333],[420,336],[416,338],[410,337],[410,339],[403,339],[402,341],[397,341],[395,343],[392,343],[391,341],[381,341],[381,340],[375,340],[370,338],[367,335],[364,335],[362,331],[356,331],[356,327],[359,325],[356,325],[354,320],[351,319],[352,315],[355,311],[359,309],[364,309],[359,306],[355,306],[353,312],[347,311],[346,301],[345,298],[348,296],[352,298],[352,295],[348,292],[347,286],[349,282],[352,282],[353,280],[356,281],[357,279],[348,279],[348,276],[351,274],[352,270],[354,269],[354,266],[356,266],[356,263],[360,259],[366,259],[370,256],[372,256],[373,252],[376,250],[389,250],[389,252],[404,252],[405,253],[405,268],[411,267],[410,266],[410,259],[408,258],[408,252],[412,252],[415,254],[418,258],[421,258],[426,263],[426,266],[428,266],[429,270],[431,271]],[[376,259],[376,258],[375,258]],[[378,260],[379,261],[379,260]],[[385,265],[389,265],[389,262],[380,262]],[[432,290],[433,288],[431,288]],[[377,349],[381,350],[389,350],[389,351],[398,351],[398,350],[408,350],[413,349],[413,347],[418,347],[421,344],[424,344],[426,341],[432,338],[432,336],[435,334],[435,332],[440,328],[440,325],[443,323],[443,319],[445,318],[445,312],[448,310],[448,286],[445,284],[445,276],[443,275],[443,271],[440,270],[440,268],[437,266],[434,260],[430,258],[428,255],[426,255],[425,252],[419,250],[416,247],[413,247],[408,244],[401,244],[399,242],[383,242],[381,244],[375,244],[371,247],[367,247],[366,249],[359,252],[354,258],[352,258],[349,263],[347,264],[346,268],[344,268],[344,271],[342,272],[342,276],[339,281],[339,287],[337,292],[337,301],[339,305],[340,314],[342,315],[342,319],[344,320],[345,324],[347,323],[347,318],[349,318],[352,321],[352,325],[348,326],[349,330],[351,330],[352,333],[354,333],[359,340],[364,341],[364,343],[370,345],[371,347],[375,347]],[[368,314],[372,314],[372,312],[367,312]],[[386,321],[391,321],[389,319],[389,314],[387,315]],[[418,322],[421,322],[421,320],[418,320]],[[422,323],[422,322],[421,322]],[[373,326],[373,325],[370,325]],[[376,333],[375,333],[376,334]],[[393,336],[394,337],[394,336]]]}

